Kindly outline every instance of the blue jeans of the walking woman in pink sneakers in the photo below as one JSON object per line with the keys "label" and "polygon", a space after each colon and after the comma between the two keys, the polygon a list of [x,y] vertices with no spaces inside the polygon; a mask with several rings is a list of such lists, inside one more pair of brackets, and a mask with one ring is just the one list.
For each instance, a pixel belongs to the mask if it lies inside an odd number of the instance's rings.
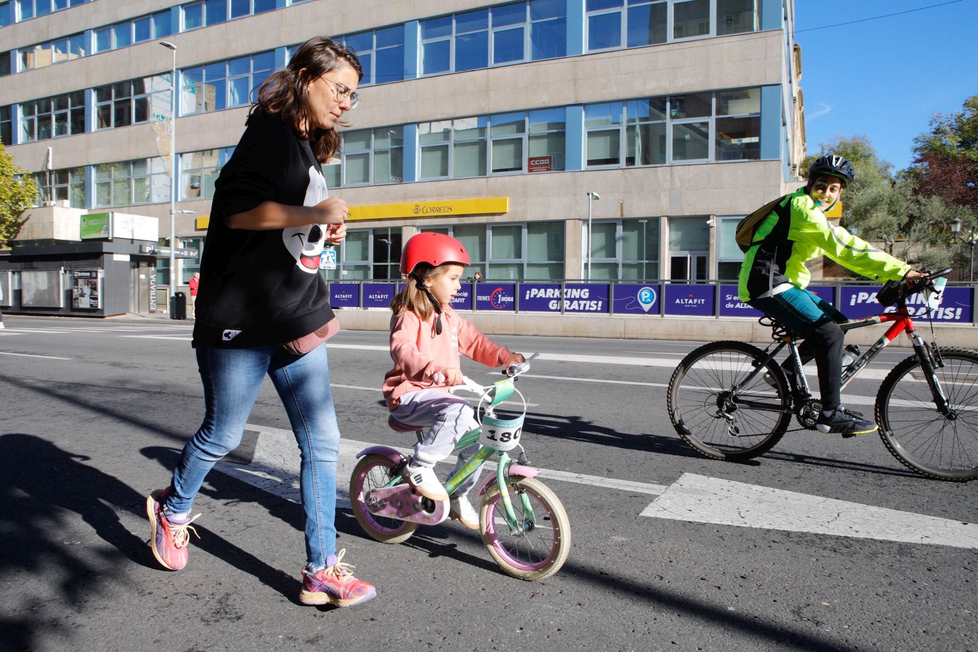
{"label": "blue jeans of the walking woman in pink sneakers", "polygon": [[165,507],[177,514],[190,511],[214,463],[241,444],[244,425],[268,373],[289,414],[301,454],[299,489],[305,511],[306,563],[314,571],[325,567],[327,557],[336,552],[339,458],[326,345],[301,357],[277,344],[252,349],[201,346],[197,363],[206,412],[200,429],[180,454]]}

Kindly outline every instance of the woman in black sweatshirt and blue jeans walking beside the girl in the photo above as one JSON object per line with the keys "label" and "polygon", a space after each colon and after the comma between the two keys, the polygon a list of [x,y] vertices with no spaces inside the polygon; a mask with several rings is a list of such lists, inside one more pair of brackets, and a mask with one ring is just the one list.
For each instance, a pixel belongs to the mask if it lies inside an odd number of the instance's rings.
{"label": "woman in black sweatshirt and blue jeans walking beside the girl", "polygon": [[334,126],[357,105],[362,77],[352,50],[315,37],[259,87],[241,142],[215,184],[200,261],[207,283],[193,346],[206,412],[170,486],[147,499],[156,560],[179,570],[190,532],[197,535],[194,497],[214,463],[240,444],[267,373],[301,454],[303,604],[348,606],[377,595],[341,561],[345,550],[336,553],[339,428],[327,347],[304,355],[284,348],[335,324],[319,259],[326,244],[345,237],[348,210],[342,199],[327,198],[321,165],[337,151]]}

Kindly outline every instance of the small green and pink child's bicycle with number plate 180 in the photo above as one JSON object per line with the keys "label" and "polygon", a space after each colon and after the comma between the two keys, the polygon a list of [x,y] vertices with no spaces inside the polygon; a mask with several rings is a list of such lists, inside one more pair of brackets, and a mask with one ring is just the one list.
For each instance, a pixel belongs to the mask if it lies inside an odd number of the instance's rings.
{"label": "small green and pink child's bicycle with number plate 180", "polygon": [[[535,356],[531,356],[532,360]],[[479,531],[482,543],[499,566],[520,580],[542,580],[554,575],[570,552],[570,522],[563,505],[537,476],[540,471],[526,465],[522,441],[526,400],[513,381],[530,369],[529,363],[511,365],[506,378],[482,387],[464,377],[464,384],[452,390],[467,390],[478,395],[476,416],[479,427],[459,440],[453,454],[478,442],[481,447],[445,484],[451,496],[469,475],[489,457],[498,455],[496,472],[482,481],[477,498]],[[523,402],[519,416],[504,419],[494,408],[515,393]],[[481,414],[481,416],[479,416]],[[423,432],[417,426],[389,419],[398,432]],[[518,459],[508,451],[519,448]],[[350,478],[350,501],[360,526],[381,543],[407,541],[420,525],[435,525],[448,518],[448,500],[422,497],[404,480],[401,473],[408,458],[392,448],[373,446],[361,451],[362,457]],[[515,500],[513,500],[515,497]]]}

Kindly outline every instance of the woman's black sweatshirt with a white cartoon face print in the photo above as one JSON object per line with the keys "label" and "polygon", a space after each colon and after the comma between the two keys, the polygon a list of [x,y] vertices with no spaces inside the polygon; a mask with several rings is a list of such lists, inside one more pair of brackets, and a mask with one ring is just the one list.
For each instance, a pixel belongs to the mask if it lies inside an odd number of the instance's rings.
{"label": "woman's black sweatshirt with a white cartoon face print", "polygon": [[263,201],[314,206],[327,198],[308,141],[277,115],[255,110],[221,170],[200,260],[193,346],[280,344],[334,319],[319,259],[325,225],[273,231],[228,227]]}

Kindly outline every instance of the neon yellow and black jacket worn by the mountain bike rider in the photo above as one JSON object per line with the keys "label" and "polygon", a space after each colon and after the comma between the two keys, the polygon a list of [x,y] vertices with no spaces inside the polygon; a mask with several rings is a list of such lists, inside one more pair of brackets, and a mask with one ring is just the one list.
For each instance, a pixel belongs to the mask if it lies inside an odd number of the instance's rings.
{"label": "neon yellow and black jacket worn by the mountain bike rider", "polygon": [[740,266],[737,290],[741,301],[750,301],[781,283],[807,287],[812,275],[805,263],[822,255],[873,281],[900,280],[911,271],[907,263],[842,227],[831,226],[804,188],[785,195],[758,224],[751,241]]}

